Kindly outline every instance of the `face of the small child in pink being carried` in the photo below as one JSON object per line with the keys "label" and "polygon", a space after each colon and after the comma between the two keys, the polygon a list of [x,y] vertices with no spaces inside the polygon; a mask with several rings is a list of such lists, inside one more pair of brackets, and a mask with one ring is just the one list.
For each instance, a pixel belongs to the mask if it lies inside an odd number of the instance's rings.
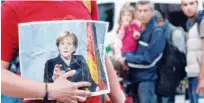
{"label": "face of the small child in pink being carried", "polygon": [[132,16],[133,16],[132,13],[129,11],[123,12],[121,15],[121,23],[123,25],[128,25],[132,20]]}

